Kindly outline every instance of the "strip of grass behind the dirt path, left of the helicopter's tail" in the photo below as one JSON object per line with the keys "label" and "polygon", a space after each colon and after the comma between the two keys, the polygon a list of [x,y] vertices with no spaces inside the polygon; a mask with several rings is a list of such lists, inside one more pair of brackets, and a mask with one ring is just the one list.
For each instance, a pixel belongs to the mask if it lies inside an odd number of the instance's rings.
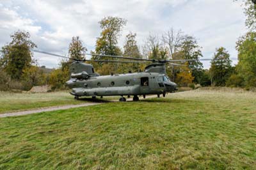
{"label": "strip of grass behind the dirt path, left of the helicopter's tail", "polygon": [[52,93],[10,93],[0,91],[0,114],[4,112],[24,111],[38,107],[81,104],[74,100],[68,91]]}

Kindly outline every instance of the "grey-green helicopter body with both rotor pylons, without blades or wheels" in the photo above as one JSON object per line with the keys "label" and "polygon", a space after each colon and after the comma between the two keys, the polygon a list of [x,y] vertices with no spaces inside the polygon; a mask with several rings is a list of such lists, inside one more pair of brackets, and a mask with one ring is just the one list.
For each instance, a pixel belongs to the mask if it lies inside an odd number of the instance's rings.
{"label": "grey-green helicopter body with both rotor pylons, without blades or wheels", "polygon": [[[88,77],[82,76],[87,73]],[[72,75],[67,86],[71,94],[81,96],[150,95],[175,91],[177,85],[166,76],[163,63],[145,68],[145,72],[99,76],[93,66],[81,62],[70,66]]]}

